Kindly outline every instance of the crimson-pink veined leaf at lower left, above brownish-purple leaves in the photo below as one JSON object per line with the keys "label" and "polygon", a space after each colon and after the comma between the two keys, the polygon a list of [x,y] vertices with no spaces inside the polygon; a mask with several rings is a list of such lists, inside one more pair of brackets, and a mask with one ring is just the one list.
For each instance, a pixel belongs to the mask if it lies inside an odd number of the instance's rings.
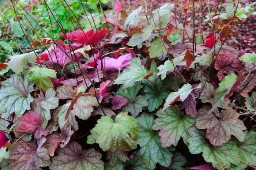
{"label": "crimson-pink veined leaf at lower left, above brownish-purple leaves", "polygon": [[[49,129],[43,129],[41,127],[41,124],[43,124],[44,120],[41,117],[40,114],[37,114],[33,111],[29,111],[29,113],[25,113],[24,116],[20,116],[18,118],[21,125],[18,128],[18,131],[22,132],[35,132],[34,137],[37,139],[41,139],[42,135],[46,136],[47,133],[49,132]],[[19,135],[23,135],[24,133],[18,132]]]}

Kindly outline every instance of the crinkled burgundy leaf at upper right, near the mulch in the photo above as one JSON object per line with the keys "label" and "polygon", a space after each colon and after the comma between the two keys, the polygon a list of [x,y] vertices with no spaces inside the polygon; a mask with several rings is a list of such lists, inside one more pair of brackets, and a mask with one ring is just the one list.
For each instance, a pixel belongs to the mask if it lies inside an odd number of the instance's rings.
{"label": "crinkled burgundy leaf at upper right, near the mulch", "polygon": [[244,68],[244,64],[242,64],[242,61],[238,58],[234,58],[232,50],[228,50],[217,56],[214,67],[215,69],[228,74],[234,71],[240,71]]}

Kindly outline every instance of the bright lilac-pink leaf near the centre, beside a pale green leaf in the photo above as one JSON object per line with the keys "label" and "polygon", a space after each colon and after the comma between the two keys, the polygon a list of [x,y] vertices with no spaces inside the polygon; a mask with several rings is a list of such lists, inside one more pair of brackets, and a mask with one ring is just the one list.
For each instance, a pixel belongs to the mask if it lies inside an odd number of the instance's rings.
{"label": "bright lilac-pink leaf near the centre, beside a pale green leaf", "polygon": [[[103,63],[103,68],[105,69],[105,72],[116,72],[116,71],[121,71],[128,67],[130,65],[130,60],[132,59],[132,54],[125,54],[117,59],[110,58],[110,57],[105,57],[102,61]],[[97,68],[100,70],[101,69],[101,60],[97,60]]]}

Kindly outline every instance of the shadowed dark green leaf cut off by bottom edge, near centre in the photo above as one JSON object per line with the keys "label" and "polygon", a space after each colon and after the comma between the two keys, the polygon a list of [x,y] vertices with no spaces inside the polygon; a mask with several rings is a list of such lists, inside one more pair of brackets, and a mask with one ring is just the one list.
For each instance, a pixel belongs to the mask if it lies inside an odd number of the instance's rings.
{"label": "shadowed dark green leaf cut off by bottom edge, near centre", "polygon": [[150,170],[148,169],[149,163],[147,159],[143,159],[141,155],[134,155],[131,160],[127,160],[126,162],[121,162],[119,160],[119,164],[124,166],[124,169],[133,169],[133,170]]}

